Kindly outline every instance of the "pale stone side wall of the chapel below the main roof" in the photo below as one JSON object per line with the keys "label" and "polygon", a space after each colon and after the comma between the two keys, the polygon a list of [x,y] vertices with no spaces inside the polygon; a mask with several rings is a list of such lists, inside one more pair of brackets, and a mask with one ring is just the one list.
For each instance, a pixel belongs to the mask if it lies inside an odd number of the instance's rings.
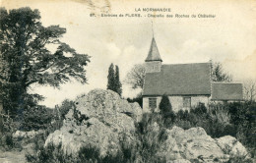
{"label": "pale stone side wall of the chapel below the main roof", "polygon": [[[179,110],[188,110],[190,108],[184,108],[183,107],[183,97],[184,96],[168,96],[169,101],[172,106],[172,110],[174,112],[178,112]],[[199,102],[205,103],[207,106],[209,103],[209,97],[205,95],[195,95],[195,96],[189,96],[191,97],[191,107],[197,106]],[[160,105],[160,99],[161,96],[156,97],[143,97],[143,112],[151,112],[152,109],[149,107],[149,98],[157,98],[157,109],[155,111],[159,111],[159,105]]]}

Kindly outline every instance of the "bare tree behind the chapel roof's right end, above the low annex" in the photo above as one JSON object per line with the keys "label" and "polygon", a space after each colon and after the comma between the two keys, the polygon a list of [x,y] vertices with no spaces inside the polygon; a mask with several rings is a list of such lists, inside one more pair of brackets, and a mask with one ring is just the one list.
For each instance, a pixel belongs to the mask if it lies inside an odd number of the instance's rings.
{"label": "bare tree behind the chapel roof's right end, above the low annex", "polygon": [[232,81],[232,77],[224,72],[223,65],[220,62],[211,64],[212,81]]}

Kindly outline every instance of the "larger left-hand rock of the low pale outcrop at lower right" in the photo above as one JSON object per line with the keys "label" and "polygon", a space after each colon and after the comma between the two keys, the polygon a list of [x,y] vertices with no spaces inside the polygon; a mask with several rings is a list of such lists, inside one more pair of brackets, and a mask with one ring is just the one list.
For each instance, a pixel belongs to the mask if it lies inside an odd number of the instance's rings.
{"label": "larger left-hand rock of the low pale outcrop at lower right", "polygon": [[196,159],[223,157],[224,152],[216,140],[208,136],[203,128],[183,130],[173,127],[167,130],[167,139],[161,145],[160,153],[170,159]]}

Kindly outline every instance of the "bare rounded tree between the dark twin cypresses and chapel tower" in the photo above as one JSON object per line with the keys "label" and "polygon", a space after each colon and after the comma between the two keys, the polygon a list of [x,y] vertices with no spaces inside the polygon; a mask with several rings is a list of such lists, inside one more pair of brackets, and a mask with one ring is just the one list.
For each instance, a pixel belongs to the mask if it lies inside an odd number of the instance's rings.
{"label": "bare rounded tree between the dark twin cypresses and chapel tower", "polygon": [[143,88],[145,75],[145,66],[142,64],[135,65],[126,75],[125,82],[130,84],[134,89]]}

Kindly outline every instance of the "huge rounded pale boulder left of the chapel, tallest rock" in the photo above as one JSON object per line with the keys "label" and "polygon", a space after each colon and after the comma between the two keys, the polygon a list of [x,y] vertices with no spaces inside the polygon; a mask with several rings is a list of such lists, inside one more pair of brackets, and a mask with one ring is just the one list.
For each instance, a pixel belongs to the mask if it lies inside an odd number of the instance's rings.
{"label": "huge rounded pale boulder left of the chapel, tallest rock", "polygon": [[102,156],[114,154],[120,140],[135,140],[135,122],[142,116],[138,104],[130,104],[111,90],[94,89],[75,101],[63,127],[50,134],[45,146],[61,145],[67,154],[77,154],[82,146],[94,146]]}

